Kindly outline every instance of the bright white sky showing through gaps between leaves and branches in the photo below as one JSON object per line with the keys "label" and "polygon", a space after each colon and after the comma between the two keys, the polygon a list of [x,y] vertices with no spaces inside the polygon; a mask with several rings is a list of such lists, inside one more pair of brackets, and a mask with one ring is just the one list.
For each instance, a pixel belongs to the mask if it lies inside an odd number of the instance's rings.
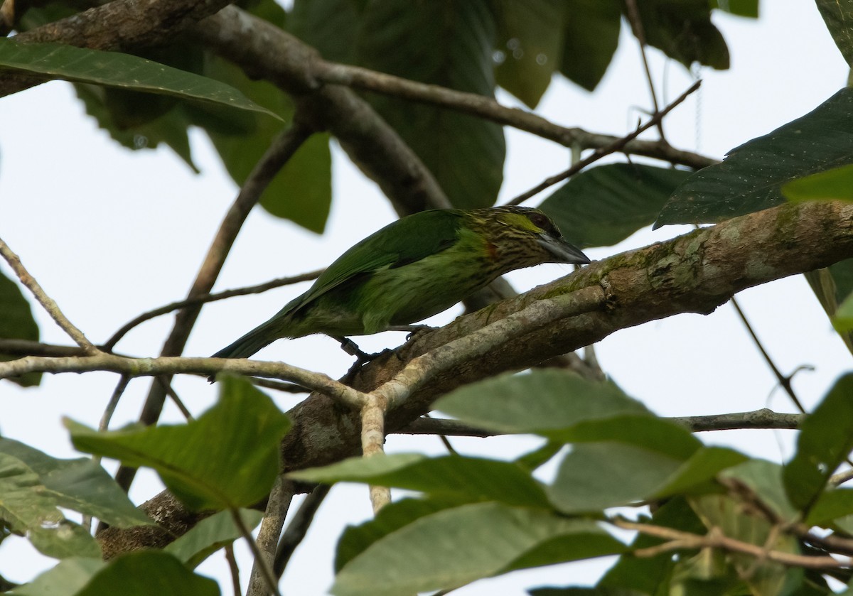
{"label": "bright white sky showing through gaps between leaves and branches", "polygon": [[[764,2],[758,22],[716,14],[732,55],[728,72],[703,70],[698,100],[689,100],[666,120],[676,147],[696,148],[714,157],[803,115],[844,85],[847,67],[813,3]],[[625,28],[625,27],[624,27]],[[651,53],[653,74],[664,102],[692,82],[676,64]],[[499,97],[514,103],[508,95]],[[560,124],[621,134],[633,128],[649,106],[645,75],[632,39],[623,36],[614,63],[595,94],[554,80],[539,112]],[[697,132],[698,131],[698,132]],[[223,173],[203,134],[194,132],[194,176],[169,149],[131,153],[96,128],[73,97],[70,85],[44,84],[0,100],[0,237],[18,252],[50,296],[88,337],[106,340],[140,312],[183,298],[235,186]],[[565,169],[568,153],[553,143],[508,131],[506,182],[502,200]],[[537,205],[541,199],[531,201]],[[387,201],[372,182],[334,151],[334,205],[322,237],[253,211],[220,276],[217,289],[267,281],[327,265],[346,247],[392,220]],[[666,240],[687,231],[666,227],[635,234],[619,246],[590,250],[605,258],[631,247]],[[273,257],[270,257],[273,256]],[[10,275],[5,263],[0,269]],[[516,288],[529,289],[565,275],[569,268],[543,265],[510,275]],[[275,313],[306,285],[206,306],[186,354],[207,356]],[[810,407],[833,380],[850,368],[850,354],[834,335],[801,276],[742,292],[741,305],[783,373],[809,364],[794,387]],[[47,315],[33,307],[42,339],[69,344]],[[434,321],[450,321],[458,311]],[[138,327],[118,350],[153,356],[160,350],[171,316]],[[365,350],[393,347],[403,336],[382,333],[360,339]],[[597,346],[602,367],[630,395],[662,415],[719,414],[770,407],[793,411],[751,344],[729,305],[712,315],[679,315],[613,334]],[[321,337],[279,341],[259,358],[278,359],[338,376],[350,364],[337,344]],[[117,377],[109,373],[46,376],[38,389],[0,384],[0,431],[57,457],[78,456],[61,426],[61,416],[96,425]],[[113,426],[136,420],[148,379],[131,383]],[[207,408],[216,388],[202,379],[177,379],[177,392],[195,414]],[[298,396],[274,395],[282,409]],[[180,420],[167,408],[164,421]],[[791,453],[792,433],[729,431],[705,434],[706,443],[727,444],[772,460]],[[509,457],[531,448],[518,438],[451,439],[471,454]],[[431,437],[390,437],[389,451],[440,453]],[[112,468],[111,468],[112,469]],[[142,473],[131,490],[136,502],[160,490],[153,473]],[[294,506],[295,508],[295,506]],[[367,491],[336,487],[314,527],[294,556],[282,583],[284,592],[326,593],[331,582],[334,542],[344,524],[370,515]],[[522,594],[525,587],[595,582],[607,561],[559,565],[476,582],[456,593]],[[31,579],[49,568],[26,541],[0,545],[0,574],[12,581]],[[202,572],[223,577],[221,554]],[[244,583],[248,568],[243,570]],[[227,583],[224,593],[229,593]]]}

